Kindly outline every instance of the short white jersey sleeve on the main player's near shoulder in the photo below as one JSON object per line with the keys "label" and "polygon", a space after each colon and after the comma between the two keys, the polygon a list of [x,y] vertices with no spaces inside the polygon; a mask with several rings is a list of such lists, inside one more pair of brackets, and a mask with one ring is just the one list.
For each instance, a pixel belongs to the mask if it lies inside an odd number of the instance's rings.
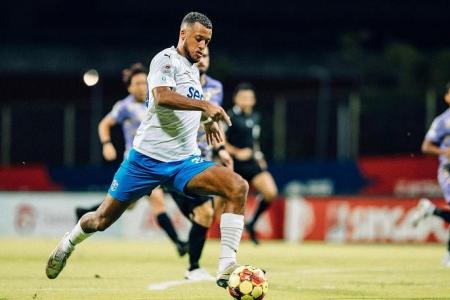
{"label": "short white jersey sleeve on the main player's near shoulder", "polygon": [[170,55],[161,53],[150,64],[148,85],[150,91],[159,86],[176,87],[176,66]]}

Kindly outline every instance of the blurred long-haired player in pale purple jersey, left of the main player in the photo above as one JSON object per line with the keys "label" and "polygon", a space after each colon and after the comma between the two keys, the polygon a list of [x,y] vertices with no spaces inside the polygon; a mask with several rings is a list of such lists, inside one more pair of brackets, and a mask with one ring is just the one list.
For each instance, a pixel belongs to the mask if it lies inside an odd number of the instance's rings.
{"label": "blurred long-haired player in pale purple jersey, left of the main player", "polygon": [[[112,111],[107,114],[98,125],[98,135],[103,145],[103,157],[112,161],[117,158],[117,152],[111,142],[111,129],[116,125],[122,126],[125,140],[126,158],[128,152],[133,146],[133,139],[136,135],[141,121],[144,119],[147,107],[145,96],[147,95],[147,70],[140,64],[134,64],[129,69],[122,71],[122,79],[125,83],[129,95],[118,101]],[[164,205],[164,193],[161,188],[156,188],[148,197],[152,213],[155,216],[159,226],[167,233],[169,238],[175,244],[178,254],[183,256],[188,251],[188,243],[179,239],[173,224],[166,213]],[[100,204],[90,208],[77,208],[76,215],[78,220],[87,212],[95,211]]]}

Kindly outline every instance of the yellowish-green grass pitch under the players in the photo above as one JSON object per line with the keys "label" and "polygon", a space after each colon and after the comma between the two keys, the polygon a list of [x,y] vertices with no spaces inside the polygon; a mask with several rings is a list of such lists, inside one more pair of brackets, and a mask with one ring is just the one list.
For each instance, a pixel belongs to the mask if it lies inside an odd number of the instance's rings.
{"label": "yellowish-green grass pitch under the players", "polygon": [[[55,280],[45,276],[55,240],[0,239],[0,299],[231,299],[211,282],[162,291],[149,284],[182,279],[187,258],[168,242],[92,239]],[[265,268],[266,299],[450,299],[443,245],[334,245],[243,242],[241,263]],[[216,268],[209,241],[203,266]]]}

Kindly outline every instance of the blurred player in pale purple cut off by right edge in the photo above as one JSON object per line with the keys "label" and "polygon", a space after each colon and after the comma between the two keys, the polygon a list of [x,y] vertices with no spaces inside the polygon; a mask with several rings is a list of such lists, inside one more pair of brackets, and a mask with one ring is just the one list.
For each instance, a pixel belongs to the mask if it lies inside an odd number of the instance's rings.
{"label": "blurred player in pale purple cut off by right edge", "polygon": [[[450,105],[450,83],[446,86],[445,102]],[[422,152],[439,157],[437,178],[444,194],[447,205],[450,205],[450,108],[437,116],[422,143]],[[430,200],[423,198],[419,201],[413,215],[413,225],[429,216],[438,216],[450,223],[450,211],[436,207]],[[447,254],[444,256],[444,265],[450,267],[450,239],[447,243]]]}

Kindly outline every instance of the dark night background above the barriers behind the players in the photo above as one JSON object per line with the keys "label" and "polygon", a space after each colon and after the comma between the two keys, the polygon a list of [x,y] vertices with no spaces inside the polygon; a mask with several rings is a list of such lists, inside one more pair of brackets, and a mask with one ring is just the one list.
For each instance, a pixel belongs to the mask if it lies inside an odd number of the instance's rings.
{"label": "dark night background above the barriers behind the players", "polygon": [[[126,96],[120,71],[148,65],[176,45],[189,11],[214,26],[210,75],[225,88],[225,107],[240,81],[257,88],[262,148],[274,159],[273,111],[287,101],[282,161],[335,159],[336,110],[361,100],[358,153],[418,153],[435,113],[446,106],[450,78],[448,1],[8,1],[0,10],[0,108],[12,109],[7,163],[63,164],[63,110],[76,107],[76,163],[92,163],[91,88],[100,73],[102,113]],[[324,75],[325,74],[325,75]],[[318,107],[328,88],[327,109]],[[317,119],[327,115],[326,151],[317,149]],[[119,145],[121,132],[114,139]],[[99,153],[100,155],[100,153]],[[4,162],[5,163],[5,162]]]}

